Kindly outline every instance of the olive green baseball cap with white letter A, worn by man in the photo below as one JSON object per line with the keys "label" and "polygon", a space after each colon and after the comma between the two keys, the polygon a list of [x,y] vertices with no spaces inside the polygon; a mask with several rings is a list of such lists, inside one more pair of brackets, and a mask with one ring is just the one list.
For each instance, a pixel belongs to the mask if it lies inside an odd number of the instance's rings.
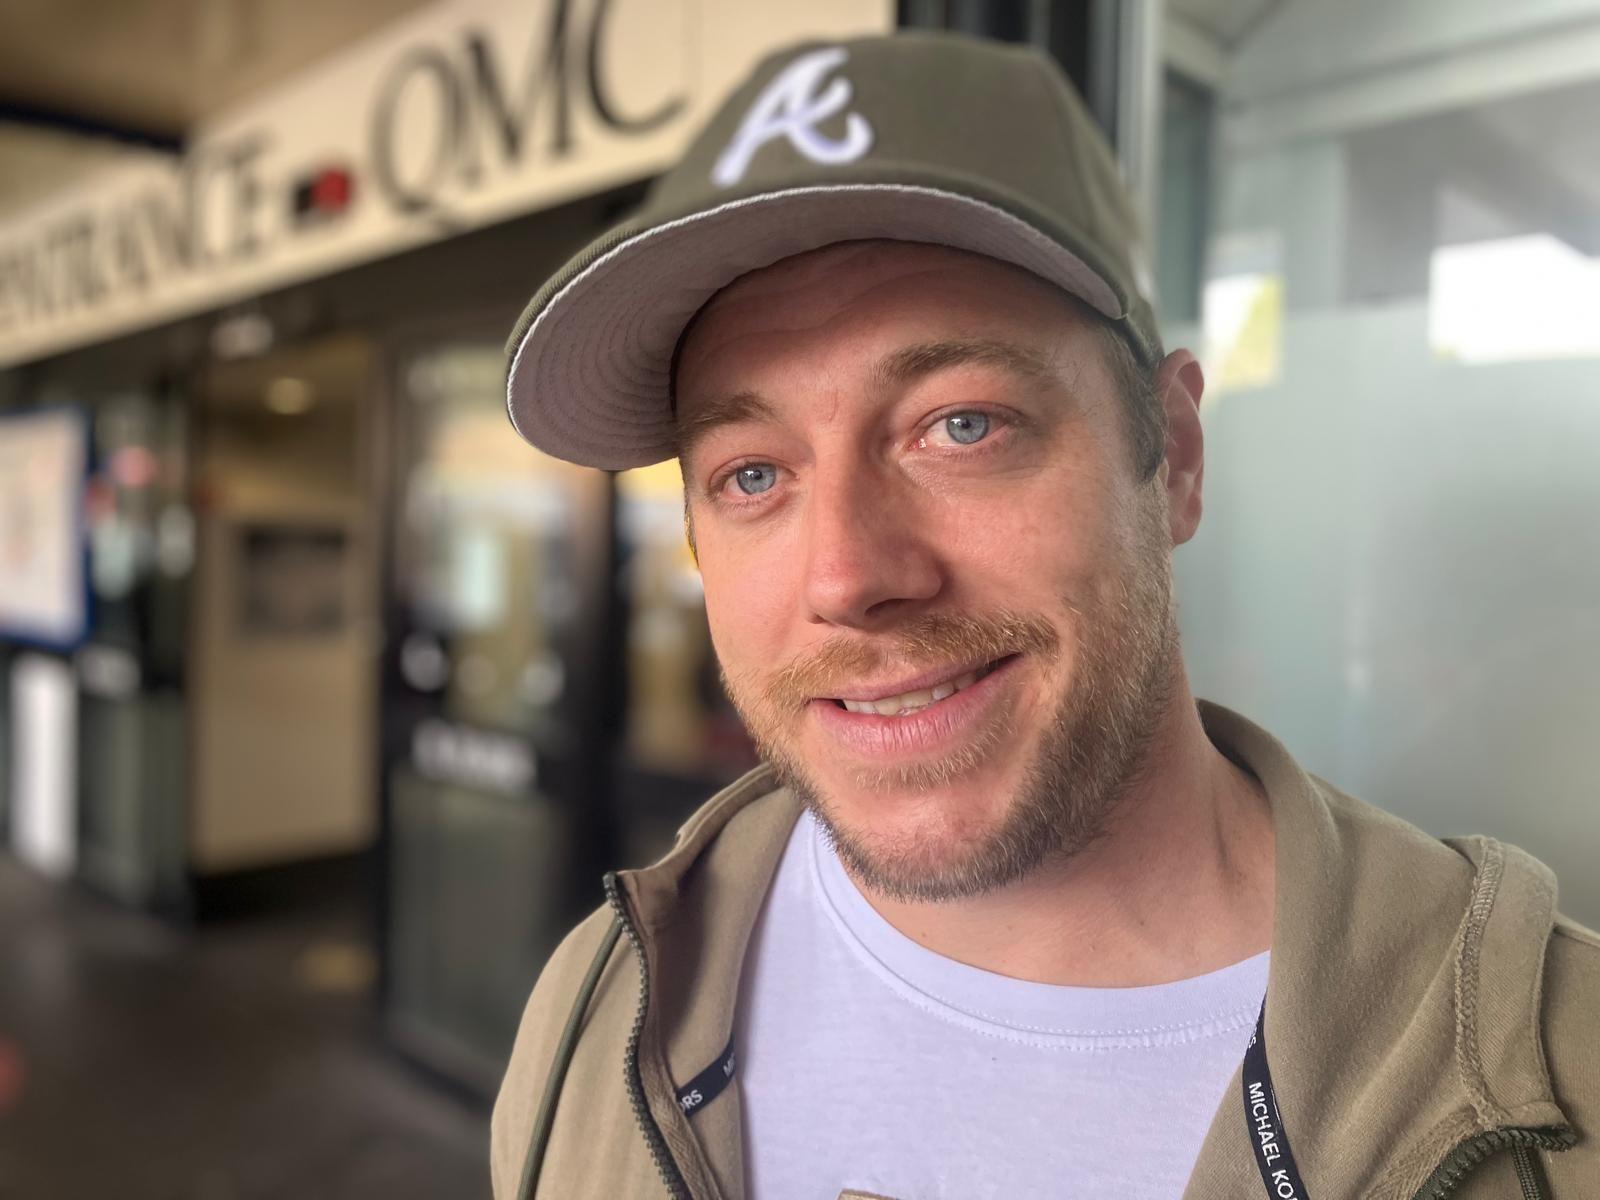
{"label": "olive green baseball cap with white letter A, worn by man", "polygon": [[672,357],[701,306],[861,238],[1014,264],[1158,355],[1133,198],[1053,59],[958,34],[811,42],[765,59],[638,213],[539,288],[506,347],[512,424],[582,466],[672,458]]}

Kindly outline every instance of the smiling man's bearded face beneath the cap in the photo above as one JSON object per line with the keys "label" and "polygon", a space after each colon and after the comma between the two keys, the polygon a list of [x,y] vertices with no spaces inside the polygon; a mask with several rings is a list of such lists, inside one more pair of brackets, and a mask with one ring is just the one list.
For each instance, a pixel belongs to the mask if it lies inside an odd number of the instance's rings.
{"label": "smiling man's bearded face beneath the cap", "polygon": [[846,867],[954,899],[1102,829],[1174,694],[1165,470],[1099,334],[926,245],[752,272],[688,331],[677,413],[712,638]]}

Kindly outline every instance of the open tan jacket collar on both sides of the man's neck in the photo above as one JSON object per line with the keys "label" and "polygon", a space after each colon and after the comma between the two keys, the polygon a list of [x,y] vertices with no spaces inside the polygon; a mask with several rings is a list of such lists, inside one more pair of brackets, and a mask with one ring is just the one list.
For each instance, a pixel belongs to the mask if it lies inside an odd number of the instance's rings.
{"label": "open tan jacket collar on both sides of the man's neck", "polygon": [[[1221,706],[1202,701],[1200,717],[1272,805],[1266,1042],[1310,1195],[1410,1200],[1474,1136],[1566,1131],[1539,1037],[1550,872],[1486,838],[1437,842],[1338,792]],[[770,771],[752,771],[696,813],[661,862],[621,877],[651,974],[651,1110],[696,1195],[742,1195],[738,1088],[691,1130],[672,1082],[730,1042],[746,944],[798,814]],[[1235,1072],[1184,1195],[1261,1189]]]}

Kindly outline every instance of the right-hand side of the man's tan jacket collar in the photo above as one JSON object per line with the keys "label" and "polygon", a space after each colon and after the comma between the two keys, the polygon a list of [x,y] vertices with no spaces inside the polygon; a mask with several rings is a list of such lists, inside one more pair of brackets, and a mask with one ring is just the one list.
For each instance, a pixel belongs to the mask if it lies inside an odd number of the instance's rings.
{"label": "right-hand side of the man's tan jacket collar", "polygon": [[[1200,714],[1272,803],[1266,1045],[1310,1195],[1410,1200],[1474,1136],[1566,1130],[1539,1035],[1550,872],[1486,838],[1437,842],[1245,718]],[[1186,1200],[1261,1189],[1235,1074]]]}

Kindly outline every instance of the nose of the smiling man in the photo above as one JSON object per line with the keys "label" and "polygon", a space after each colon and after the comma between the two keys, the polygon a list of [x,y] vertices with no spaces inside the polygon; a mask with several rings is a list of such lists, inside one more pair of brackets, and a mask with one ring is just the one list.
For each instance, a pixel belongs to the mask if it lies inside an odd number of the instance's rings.
{"label": "nose of the smiling man", "polygon": [[861,466],[819,469],[806,496],[808,619],[874,629],[933,600],[944,568],[915,494]]}

